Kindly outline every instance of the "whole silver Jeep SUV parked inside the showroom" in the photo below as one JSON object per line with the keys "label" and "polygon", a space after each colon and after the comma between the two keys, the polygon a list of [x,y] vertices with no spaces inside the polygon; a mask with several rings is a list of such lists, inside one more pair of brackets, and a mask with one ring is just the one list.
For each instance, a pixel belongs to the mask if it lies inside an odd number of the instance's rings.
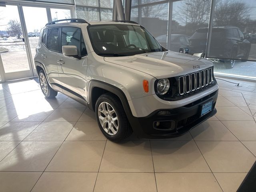
{"label": "whole silver Jeep SUV parked inside the showroom", "polygon": [[166,50],[136,22],[50,22],[34,61],[45,97],[88,106],[114,142],[180,136],[216,114],[212,62]]}

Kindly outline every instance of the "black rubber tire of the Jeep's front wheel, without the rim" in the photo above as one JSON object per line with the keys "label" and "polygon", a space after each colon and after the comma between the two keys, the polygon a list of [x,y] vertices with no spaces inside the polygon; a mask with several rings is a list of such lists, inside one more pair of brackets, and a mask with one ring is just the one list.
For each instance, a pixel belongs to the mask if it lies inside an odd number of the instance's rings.
{"label": "black rubber tire of the Jeep's front wheel, without the rim", "polygon": [[[110,128],[109,128],[109,131],[110,131],[109,133],[105,131],[106,129],[104,130],[104,128],[101,125],[100,119],[99,119],[99,113],[102,116],[106,116],[102,112],[99,112],[100,105],[102,106],[102,104],[106,104],[106,103],[110,104],[110,107],[112,107],[113,110],[115,111],[113,116],[116,116],[118,118],[118,130],[117,130],[116,134],[114,134],[114,135],[111,135],[111,134],[113,134],[113,132],[111,132]],[[112,93],[102,94],[96,101],[95,115],[96,115],[96,120],[98,122],[101,132],[104,134],[104,136],[106,138],[108,138],[112,142],[120,142],[120,141],[124,140],[125,138],[127,138],[128,136],[130,136],[130,134],[132,134],[132,128],[130,127],[130,124],[129,124],[126,114],[124,112],[122,103],[120,102],[119,98],[116,95],[114,95]],[[106,116],[106,118],[107,118],[107,116]],[[108,124],[108,122],[107,122],[107,124]]]}

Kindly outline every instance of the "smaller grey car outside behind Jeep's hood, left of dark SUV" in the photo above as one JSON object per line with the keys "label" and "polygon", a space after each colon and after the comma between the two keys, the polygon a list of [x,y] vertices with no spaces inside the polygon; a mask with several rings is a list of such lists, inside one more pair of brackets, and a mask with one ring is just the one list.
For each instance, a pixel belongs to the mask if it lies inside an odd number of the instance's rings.
{"label": "smaller grey car outside behind Jeep's hood, left of dark SUV", "polygon": [[[170,43],[170,50],[179,52],[180,48],[188,48],[188,39],[189,36],[182,35],[182,34],[172,34],[171,35],[171,43]],[[158,42],[164,47],[166,46],[167,35],[161,35],[156,38]]]}

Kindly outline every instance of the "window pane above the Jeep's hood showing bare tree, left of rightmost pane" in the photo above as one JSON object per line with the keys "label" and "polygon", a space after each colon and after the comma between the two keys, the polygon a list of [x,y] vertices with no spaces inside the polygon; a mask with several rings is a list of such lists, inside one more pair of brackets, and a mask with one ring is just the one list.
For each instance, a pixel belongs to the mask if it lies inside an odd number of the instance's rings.
{"label": "window pane above the Jeep's hood showing bare tree, left of rightmost pane", "polygon": [[[189,54],[205,52],[210,5],[211,0],[173,2],[170,50],[188,48]],[[198,30],[205,30],[206,34],[199,34]]]}

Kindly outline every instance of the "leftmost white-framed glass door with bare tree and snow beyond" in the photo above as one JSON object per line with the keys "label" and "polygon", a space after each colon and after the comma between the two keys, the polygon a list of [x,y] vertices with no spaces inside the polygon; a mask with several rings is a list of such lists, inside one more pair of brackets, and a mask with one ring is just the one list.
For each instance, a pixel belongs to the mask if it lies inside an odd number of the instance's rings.
{"label": "leftmost white-framed glass door with bare tree and snow beyond", "polygon": [[0,7],[0,68],[4,80],[34,76],[28,45],[24,40],[24,26],[20,20],[20,7]]}

